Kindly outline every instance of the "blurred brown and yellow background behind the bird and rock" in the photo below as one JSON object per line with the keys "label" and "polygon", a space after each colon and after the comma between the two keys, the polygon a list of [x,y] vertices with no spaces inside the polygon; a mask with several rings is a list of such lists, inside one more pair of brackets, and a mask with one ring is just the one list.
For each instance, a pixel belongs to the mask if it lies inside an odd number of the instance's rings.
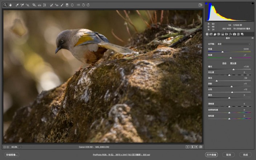
{"label": "blurred brown and yellow background behind the bird and rock", "polygon": [[[119,14],[123,11],[4,11],[3,107],[4,132],[15,111],[33,102],[42,90],[64,83],[82,65],[68,50],[55,54],[56,37],[66,29],[86,28],[124,46],[133,34],[148,26],[150,17],[162,23],[186,27],[201,11],[126,11],[133,26]],[[163,13],[163,14],[162,14]],[[182,13],[182,14],[181,14]],[[161,15],[162,14],[162,15]],[[129,32],[127,31],[129,28]],[[122,41],[118,40],[120,38]]]}

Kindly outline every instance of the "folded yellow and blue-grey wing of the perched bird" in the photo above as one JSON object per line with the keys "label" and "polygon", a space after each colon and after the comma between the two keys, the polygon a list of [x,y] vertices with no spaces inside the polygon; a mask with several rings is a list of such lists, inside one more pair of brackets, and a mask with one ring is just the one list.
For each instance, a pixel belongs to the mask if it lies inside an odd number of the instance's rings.
{"label": "folded yellow and blue-grey wing of the perched bird", "polygon": [[99,43],[99,42],[109,42],[105,36],[102,34],[99,34],[97,32],[88,31],[85,32],[78,32],[77,34],[80,34],[80,38],[78,39],[75,46],[84,45],[84,44],[90,44],[90,43]]}

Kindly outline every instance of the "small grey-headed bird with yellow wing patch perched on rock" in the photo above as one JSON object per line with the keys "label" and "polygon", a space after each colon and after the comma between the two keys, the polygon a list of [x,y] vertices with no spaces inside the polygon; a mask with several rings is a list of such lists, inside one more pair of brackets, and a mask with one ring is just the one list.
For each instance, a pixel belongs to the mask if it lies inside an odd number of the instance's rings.
{"label": "small grey-headed bird with yellow wing patch perched on rock", "polygon": [[111,44],[105,36],[89,29],[62,31],[56,38],[56,46],[55,54],[60,49],[67,49],[77,60],[83,63],[97,62],[107,49],[112,49],[124,55],[137,53],[131,49]]}

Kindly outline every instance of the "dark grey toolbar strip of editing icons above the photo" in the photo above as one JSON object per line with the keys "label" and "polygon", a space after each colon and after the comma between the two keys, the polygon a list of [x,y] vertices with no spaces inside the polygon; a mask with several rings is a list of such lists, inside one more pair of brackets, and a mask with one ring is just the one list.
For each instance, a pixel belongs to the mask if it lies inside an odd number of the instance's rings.
{"label": "dark grey toolbar strip of editing icons above the photo", "polygon": [[198,2],[3,2],[2,9],[176,9],[176,8],[195,8],[202,9],[203,3]]}

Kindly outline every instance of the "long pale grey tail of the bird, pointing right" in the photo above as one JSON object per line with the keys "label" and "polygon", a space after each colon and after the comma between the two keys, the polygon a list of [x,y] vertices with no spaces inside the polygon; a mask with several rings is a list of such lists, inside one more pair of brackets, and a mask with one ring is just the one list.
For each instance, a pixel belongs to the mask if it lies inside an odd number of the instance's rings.
{"label": "long pale grey tail of the bird, pointing right", "polygon": [[106,49],[112,49],[115,52],[118,52],[118,53],[121,53],[121,54],[124,54],[124,55],[132,54],[132,53],[138,53],[138,52],[135,52],[135,51],[133,51],[129,48],[125,48],[125,47],[118,46],[118,45],[115,45],[115,44],[111,44],[111,43],[108,43],[108,42],[99,42],[98,46],[106,48]]}

